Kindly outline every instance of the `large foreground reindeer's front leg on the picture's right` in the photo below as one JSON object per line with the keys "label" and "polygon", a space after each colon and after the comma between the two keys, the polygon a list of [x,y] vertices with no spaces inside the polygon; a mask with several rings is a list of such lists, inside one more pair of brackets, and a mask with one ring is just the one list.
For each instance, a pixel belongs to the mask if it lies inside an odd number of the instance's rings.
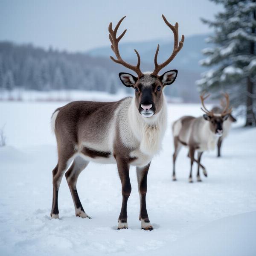
{"label": "large foreground reindeer's front leg on the picture's right", "polygon": [[144,230],[153,230],[152,225],[148,219],[148,212],[146,207],[147,194],[147,176],[150,163],[142,168],[137,167],[138,190],[140,194],[140,216],[141,228]]}

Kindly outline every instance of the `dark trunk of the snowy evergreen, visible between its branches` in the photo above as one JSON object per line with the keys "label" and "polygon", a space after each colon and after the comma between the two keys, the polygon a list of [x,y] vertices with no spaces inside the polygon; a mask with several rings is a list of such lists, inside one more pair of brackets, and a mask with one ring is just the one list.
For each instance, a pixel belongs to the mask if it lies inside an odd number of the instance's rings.
{"label": "dark trunk of the snowy evergreen, visible between its branches", "polygon": [[[255,2],[253,0],[252,2]],[[253,11],[253,18],[256,20],[256,11]],[[255,27],[252,27],[252,34],[255,33]],[[254,54],[255,43],[254,41],[250,42],[250,54]],[[250,76],[247,78],[247,96],[246,96],[246,123],[245,126],[253,126],[256,125],[256,118],[253,112],[253,81],[250,79]]]}

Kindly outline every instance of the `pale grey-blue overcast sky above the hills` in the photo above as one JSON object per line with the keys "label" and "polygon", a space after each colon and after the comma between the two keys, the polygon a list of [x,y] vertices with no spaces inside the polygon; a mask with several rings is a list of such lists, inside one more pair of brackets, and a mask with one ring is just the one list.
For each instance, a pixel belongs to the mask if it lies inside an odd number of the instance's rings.
{"label": "pale grey-blue overcast sky above the hills", "polygon": [[162,13],[186,37],[210,32],[199,18],[220,10],[209,0],[0,0],[0,41],[86,51],[109,45],[108,24],[125,15],[123,42],[173,37]]}

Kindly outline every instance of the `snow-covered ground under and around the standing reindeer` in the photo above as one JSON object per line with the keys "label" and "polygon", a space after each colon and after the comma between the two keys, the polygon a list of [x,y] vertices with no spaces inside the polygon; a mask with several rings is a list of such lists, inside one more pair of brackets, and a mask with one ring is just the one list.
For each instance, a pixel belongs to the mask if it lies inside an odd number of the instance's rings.
{"label": "snow-covered ground under and around the standing reindeer", "polygon": [[[57,162],[50,116],[63,105],[0,102],[0,255],[256,255],[256,129],[233,127],[223,157],[206,152],[208,177],[188,183],[184,148],[172,181],[172,134],[148,174],[147,207],[153,231],[140,229],[135,168],[128,201],[127,230],[116,230],[122,195],[115,165],[90,163],[78,180],[85,211],[74,215],[65,179],[59,191],[60,219],[50,219],[52,169]],[[184,114],[201,115],[199,105],[169,105],[169,122]],[[196,169],[196,165],[194,166]],[[195,179],[194,169],[193,177]]]}

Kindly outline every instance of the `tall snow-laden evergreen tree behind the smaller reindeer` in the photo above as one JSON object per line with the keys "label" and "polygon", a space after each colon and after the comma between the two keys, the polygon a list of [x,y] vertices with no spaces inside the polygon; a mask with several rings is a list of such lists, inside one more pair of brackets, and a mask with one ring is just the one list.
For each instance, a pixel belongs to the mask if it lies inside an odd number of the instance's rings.
{"label": "tall snow-laden evergreen tree behind the smaller reindeer", "polygon": [[224,11],[215,20],[202,21],[215,29],[207,38],[214,47],[203,50],[207,58],[202,66],[212,67],[197,81],[199,90],[215,96],[227,91],[233,107],[246,107],[245,126],[256,125],[256,0],[211,0],[222,4]]}

